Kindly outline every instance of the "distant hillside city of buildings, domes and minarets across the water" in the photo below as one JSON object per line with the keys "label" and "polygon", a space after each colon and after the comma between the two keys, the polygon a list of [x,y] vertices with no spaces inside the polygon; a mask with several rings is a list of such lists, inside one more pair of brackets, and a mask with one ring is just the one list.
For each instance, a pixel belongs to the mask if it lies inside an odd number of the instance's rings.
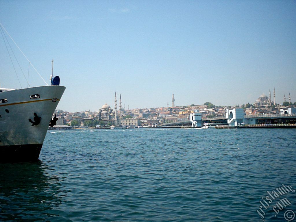
{"label": "distant hillside city of buildings, domes and minarets across the water", "polygon": [[[120,98],[121,99],[121,98]],[[116,100],[116,99],[115,99]],[[67,112],[56,110],[58,121],[57,125],[68,126],[154,126],[163,123],[178,122],[188,120],[190,113],[199,112],[202,118],[224,117],[227,109],[242,108],[245,115],[263,115],[263,114],[279,114],[280,109],[294,108],[296,102],[286,101],[276,104],[271,100],[271,96],[264,94],[253,103],[234,106],[215,106],[211,102],[205,102],[202,105],[187,106],[167,106],[157,108],[136,108],[124,109],[120,107],[117,110],[115,105],[111,108],[108,104],[104,104],[98,111],[81,111]],[[173,104],[174,105],[174,97]],[[116,104],[116,102],[115,102]],[[116,112],[115,112],[116,110]]]}

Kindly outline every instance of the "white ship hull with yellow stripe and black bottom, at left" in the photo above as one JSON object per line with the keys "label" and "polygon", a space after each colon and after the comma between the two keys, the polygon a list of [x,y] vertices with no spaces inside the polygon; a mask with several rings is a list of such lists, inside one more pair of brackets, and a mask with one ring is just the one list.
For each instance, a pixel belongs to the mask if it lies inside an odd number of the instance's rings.
{"label": "white ship hull with yellow stripe and black bottom, at left", "polygon": [[[40,86],[0,92],[1,162],[38,160],[49,122],[65,89]],[[34,113],[41,117],[40,123]],[[32,124],[35,120],[37,125]]]}

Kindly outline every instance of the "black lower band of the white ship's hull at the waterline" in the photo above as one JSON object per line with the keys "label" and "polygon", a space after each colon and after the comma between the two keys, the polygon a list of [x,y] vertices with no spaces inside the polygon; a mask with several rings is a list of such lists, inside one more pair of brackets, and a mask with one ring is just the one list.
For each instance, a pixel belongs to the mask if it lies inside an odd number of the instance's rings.
{"label": "black lower band of the white ship's hull at the waterline", "polygon": [[0,162],[36,162],[43,144],[25,144],[0,147]]}

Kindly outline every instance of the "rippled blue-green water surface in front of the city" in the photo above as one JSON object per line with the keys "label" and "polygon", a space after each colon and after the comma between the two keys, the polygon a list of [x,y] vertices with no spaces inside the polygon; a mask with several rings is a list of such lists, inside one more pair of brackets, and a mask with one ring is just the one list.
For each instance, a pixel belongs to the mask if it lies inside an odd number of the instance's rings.
{"label": "rippled blue-green water surface in front of the city", "polygon": [[[49,131],[40,162],[0,164],[0,221],[263,221],[267,191],[296,189],[295,138],[295,129]],[[291,204],[276,213],[284,197]],[[296,192],[263,208],[264,221],[286,221],[288,209]]]}

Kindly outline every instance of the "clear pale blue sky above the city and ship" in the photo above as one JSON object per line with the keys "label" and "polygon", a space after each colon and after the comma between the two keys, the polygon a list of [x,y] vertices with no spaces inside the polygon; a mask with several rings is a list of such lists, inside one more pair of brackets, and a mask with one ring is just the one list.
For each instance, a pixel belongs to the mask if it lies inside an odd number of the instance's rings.
{"label": "clear pale blue sky above the city and ship", "polygon": [[[130,109],[172,94],[176,106],[253,103],[274,87],[277,103],[296,101],[296,1],[0,0],[0,22],[48,84],[54,59],[66,111],[114,107],[115,91]],[[2,36],[0,51],[1,87],[20,88]],[[32,67],[29,83],[44,85]]]}

